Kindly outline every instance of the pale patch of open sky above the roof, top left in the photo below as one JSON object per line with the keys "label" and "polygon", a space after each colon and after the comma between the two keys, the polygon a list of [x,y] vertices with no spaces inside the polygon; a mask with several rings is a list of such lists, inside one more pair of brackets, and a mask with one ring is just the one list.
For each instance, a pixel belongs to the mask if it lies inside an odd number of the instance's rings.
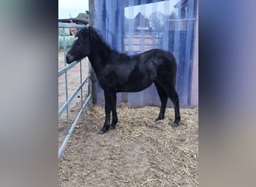
{"label": "pale patch of open sky above the roof, top left", "polygon": [[89,10],[89,0],[58,0],[58,19],[76,17]]}

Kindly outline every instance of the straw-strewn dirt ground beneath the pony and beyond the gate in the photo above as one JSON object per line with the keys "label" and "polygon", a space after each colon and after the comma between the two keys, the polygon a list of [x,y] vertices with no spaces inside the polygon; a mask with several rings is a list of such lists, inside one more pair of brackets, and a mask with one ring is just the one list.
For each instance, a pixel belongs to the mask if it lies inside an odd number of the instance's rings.
{"label": "straw-strewn dirt ground beneath the pony and beyond the gate", "polygon": [[[70,82],[79,79],[76,71],[69,73]],[[65,99],[63,84],[59,79],[59,102]],[[70,123],[81,108],[79,99],[70,107]],[[174,108],[155,123],[158,113],[159,107],[122,104],[116,129],[100,135],[104,108],[85,108],[59,159],[59,186],[198,186],[198,108],[181,108],[177,128],[170,125]],[[59,120],[59,142],[65,119],[64,114]]]}

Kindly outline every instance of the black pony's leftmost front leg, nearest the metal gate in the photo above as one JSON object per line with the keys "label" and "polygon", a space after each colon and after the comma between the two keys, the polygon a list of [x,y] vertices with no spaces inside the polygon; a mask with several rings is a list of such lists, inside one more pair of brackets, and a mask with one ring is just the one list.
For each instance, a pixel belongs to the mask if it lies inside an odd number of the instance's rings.
{"label": "black pony's leftmost front leg, nearest the metal gate", "polygon": [[101,132],[105,133],[109,130],[110,126],[110,113],[113,108],[113,104],[115,103],[115,93],[104,91],[105,96],[105,123],[103,125],[103,128],[101,129]]}

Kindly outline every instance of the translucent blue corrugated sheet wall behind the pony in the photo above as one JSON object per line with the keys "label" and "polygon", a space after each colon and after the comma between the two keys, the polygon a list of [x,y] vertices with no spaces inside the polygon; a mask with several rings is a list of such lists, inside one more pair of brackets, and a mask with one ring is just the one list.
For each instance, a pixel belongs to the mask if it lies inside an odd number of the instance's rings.
{"label": "translucent blue corrugated sheet wall behind the pony", "polygon": [[[189,1],[186,13],[174,7],[177,2],[94,0],[94,27],[112,49],[128,55],[153,48],[172,52],[178,64],[176,88],[180,106],[189,107],[196,1]],[[153,12],[159,14],[157,27],[153,16],[150,16]],[[181,17],[184,15],[186,17]],[[99,85],[96,88],[97,104],[104,105],[103,90]],[[154,85],[138,93],[118,93],[118,104],[120,102],[128,102],[131,107],[160,105]],[[172,106],[170,100],[168,106]]]}

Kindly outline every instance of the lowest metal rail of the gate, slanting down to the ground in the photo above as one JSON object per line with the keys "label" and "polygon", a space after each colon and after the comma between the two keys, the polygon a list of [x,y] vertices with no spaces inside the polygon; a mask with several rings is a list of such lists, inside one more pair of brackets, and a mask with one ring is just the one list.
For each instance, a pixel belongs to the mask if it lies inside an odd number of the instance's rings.
{"label": "lowest metal rail of the gate, slanting down to the ground", "polygon": [[76,128],[78,120],[79,120],[82,112],[85,110],[85,106],[88,105],[89,101],[91,100],[91,95],[92,95],[92,93],[90,93],[90,95],[86,99],[85,104],[83,105],[83,107],[79,111],[79,114],[77,115],[76,120],[73,122],[68,134],[66,135],[64,141],[62,142],[61,147],[58,149],[58,159],[60,158],[61,153],[64,151],[64,148],[66,147],[67,141],[70,139],[70,136],[72,135],[73,130]]}

